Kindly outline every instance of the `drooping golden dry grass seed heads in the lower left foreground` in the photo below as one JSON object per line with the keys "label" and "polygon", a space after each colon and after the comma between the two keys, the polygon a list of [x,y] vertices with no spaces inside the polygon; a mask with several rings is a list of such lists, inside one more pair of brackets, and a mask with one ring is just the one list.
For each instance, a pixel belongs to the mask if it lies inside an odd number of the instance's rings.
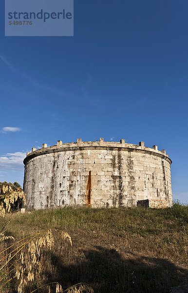
{"label": "drooping golden dry grass seed heads in the lower left foreground", "polygon": [[[43,235],[38,237],[40,234]],[[60,234],[62,240],[68,239],[72,246],[70,235],[64,231],[61,231]],[[3,238],[4,240],[12,240],[10,236]],[[35,286],[38,288],[30,291],[31,293],[44,287],[48,287],[48,292],[51,293],[51,284],[56,284],[56,293],[62,293],[62,287],[58,282],[45,284],[46,279],[42,277],[43,274],[45,275],[46,264],[49,264],[46,250],[53,252],[54,243],[53,230],[49,229],[46,232],[26,237],[1,251],[0,272],[2,277],[0,279],[0,290],[7,286],[8,283],[11,285],[13,280],[17,287],[17,293],[27,292],[27,287],[32,282],[35,282]],[[10,268],[11,270],[9,270]],[[7,276],[10,274],[12,277],[7,279]],[[15,281],[16,279],[17,281]],[[42,280],[44,285],[40,286]]]}

